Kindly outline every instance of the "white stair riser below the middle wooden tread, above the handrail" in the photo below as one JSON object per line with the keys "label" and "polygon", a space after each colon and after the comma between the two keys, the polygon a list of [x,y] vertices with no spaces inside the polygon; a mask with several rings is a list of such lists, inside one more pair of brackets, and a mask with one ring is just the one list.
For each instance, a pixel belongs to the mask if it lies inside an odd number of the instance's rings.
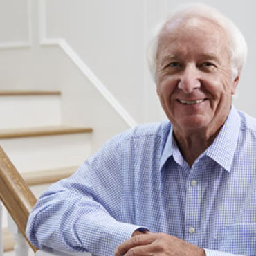
{"label": "white stair riser below the middle wooden tread, above the handrail", "polygon": [[91,134],[1,139],[19,172],[80,165],[91,153]]}

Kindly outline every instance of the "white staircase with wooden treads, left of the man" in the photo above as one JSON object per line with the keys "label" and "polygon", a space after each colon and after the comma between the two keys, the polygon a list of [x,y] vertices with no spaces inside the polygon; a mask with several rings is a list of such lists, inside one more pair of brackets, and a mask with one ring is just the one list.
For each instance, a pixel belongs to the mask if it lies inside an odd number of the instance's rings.
{"label": "white staircase with wooden treads, left of the man", "polygon": [[[0,91],[0,145],[36,197],[91,154],[90,127],[62,124],[60,91]],[[3,248],[13,241],[3,212]]]}

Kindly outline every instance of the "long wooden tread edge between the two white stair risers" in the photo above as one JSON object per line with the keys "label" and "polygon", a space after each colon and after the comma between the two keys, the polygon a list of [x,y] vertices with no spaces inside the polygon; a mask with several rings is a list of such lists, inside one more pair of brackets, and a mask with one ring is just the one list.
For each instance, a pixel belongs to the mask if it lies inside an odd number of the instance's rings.
{"label": "long wooden tread edge between the two white stair risers", "polygon": [[32,127],[24,129],[2,129],[0,130],[0,139],[6,138],[22,138],[22,137],[35,137],[35,136],[50,136],[61,134],[80,134],[90,133],[92,128],[86,127]]}

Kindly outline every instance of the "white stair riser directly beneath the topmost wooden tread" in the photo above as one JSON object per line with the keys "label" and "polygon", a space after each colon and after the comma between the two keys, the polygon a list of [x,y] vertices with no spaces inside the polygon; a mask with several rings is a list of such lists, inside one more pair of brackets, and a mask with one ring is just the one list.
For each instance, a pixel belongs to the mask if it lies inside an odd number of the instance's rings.
{"label": "white stair riser directly beneath the topmost wooden tread", "polygon": [[2,96],[0,129],[60,125],[60,96]]}

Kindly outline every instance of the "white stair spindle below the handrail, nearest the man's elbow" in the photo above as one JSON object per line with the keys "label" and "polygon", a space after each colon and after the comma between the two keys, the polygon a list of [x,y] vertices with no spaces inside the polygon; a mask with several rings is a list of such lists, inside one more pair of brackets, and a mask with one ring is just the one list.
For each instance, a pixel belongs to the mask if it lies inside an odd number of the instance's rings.
{"label": "white stair spindle below the handrail, nearest the man's elbow", "polygon": [[12,237],[15,240],[15,255],[16,256],[28,256],[28,244],[23,237],[19,228],[12,220],[12,217],[8,214],[8,230],[12,233]]}

